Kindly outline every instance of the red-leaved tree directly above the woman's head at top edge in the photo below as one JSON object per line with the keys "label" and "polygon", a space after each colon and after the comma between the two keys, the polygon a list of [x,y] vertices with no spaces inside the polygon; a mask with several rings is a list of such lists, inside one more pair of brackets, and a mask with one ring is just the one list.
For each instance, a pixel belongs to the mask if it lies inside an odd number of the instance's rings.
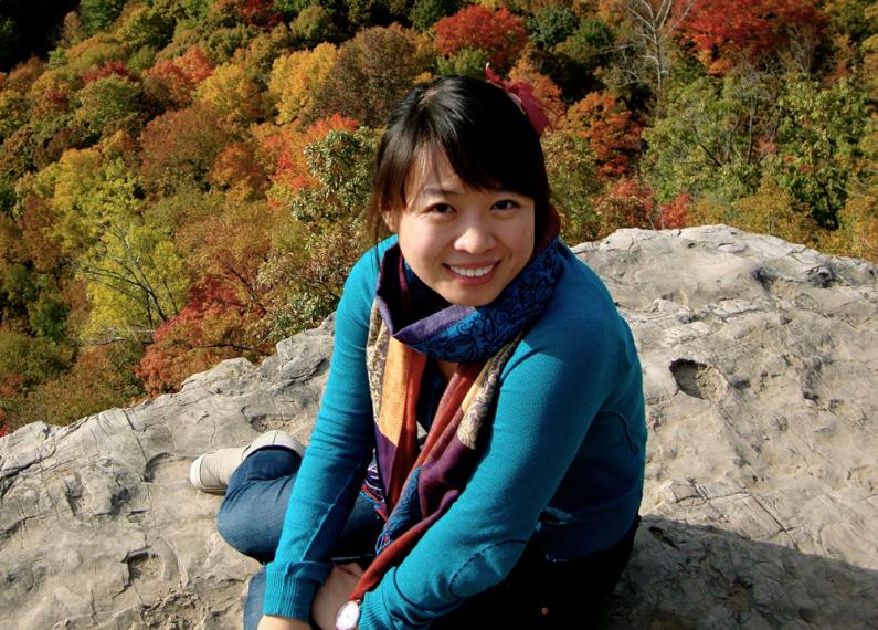
{"label": "red-leaved tree directly above the woman's head at top edge", "polygon": [[454,15],[443,18],[433,28],[436,48],[443,54],[482,49],[489,53],[491,65],[498,70],[508,67],[528,42],[521,18],[505,8],[495,13],[482,4],[470,4]]}

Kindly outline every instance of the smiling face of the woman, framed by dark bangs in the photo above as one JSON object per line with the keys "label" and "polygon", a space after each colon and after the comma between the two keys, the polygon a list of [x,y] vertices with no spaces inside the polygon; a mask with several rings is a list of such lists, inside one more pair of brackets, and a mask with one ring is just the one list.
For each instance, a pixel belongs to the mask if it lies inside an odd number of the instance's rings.
{"label": "smiling face of the woman, framed by dark bangs", "polygon": [[387,213],[412,271],[452,304],[484,306],[533,253],[533,200],[508,190],[469,188],[447,159],[419,159],[408,207]]}

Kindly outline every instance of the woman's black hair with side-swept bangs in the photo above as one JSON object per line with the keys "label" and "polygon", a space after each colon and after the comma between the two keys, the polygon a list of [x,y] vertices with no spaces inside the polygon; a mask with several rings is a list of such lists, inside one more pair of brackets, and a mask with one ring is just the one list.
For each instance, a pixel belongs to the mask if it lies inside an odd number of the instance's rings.
{"label": "woman's black hair with side-swept bangs", "polygon": [[465,76],[415,85],[395,107],[378,147],[368,222],[378,238],[384,213],[406,207],[405,186],[421,151],[447,158],[472,188],[510,190],[548,214],[549,181],[537,132],[503,88]]}

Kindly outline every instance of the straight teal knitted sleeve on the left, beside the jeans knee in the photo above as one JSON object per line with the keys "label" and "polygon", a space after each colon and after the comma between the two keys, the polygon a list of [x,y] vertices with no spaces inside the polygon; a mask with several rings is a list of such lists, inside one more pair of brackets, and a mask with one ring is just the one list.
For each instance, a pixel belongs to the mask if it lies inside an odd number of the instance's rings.
{"label": "straight teal knitted sleeve on the left, beside the jeans knee", "polygon": [[330,553],[360,489],[374,437],[366,339],[377,256],[355,265],[336,312],[329,380],[290,493],[277,553],[266,567],[263,611],[307,621]]}

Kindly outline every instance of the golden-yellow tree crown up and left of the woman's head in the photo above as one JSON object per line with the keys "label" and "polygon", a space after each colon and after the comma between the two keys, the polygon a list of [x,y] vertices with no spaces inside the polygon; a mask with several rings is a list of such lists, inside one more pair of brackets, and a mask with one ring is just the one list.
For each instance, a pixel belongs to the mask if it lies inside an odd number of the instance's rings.
{"label": "golden-yellow tree crown up and left of the woman's head", "polygon": [[268,92],[277,101],[277,124],[315,114],[313,95],[331,76],[337,56],[334,44],[322,43],[314,50],[296,51],[275,60]]}

